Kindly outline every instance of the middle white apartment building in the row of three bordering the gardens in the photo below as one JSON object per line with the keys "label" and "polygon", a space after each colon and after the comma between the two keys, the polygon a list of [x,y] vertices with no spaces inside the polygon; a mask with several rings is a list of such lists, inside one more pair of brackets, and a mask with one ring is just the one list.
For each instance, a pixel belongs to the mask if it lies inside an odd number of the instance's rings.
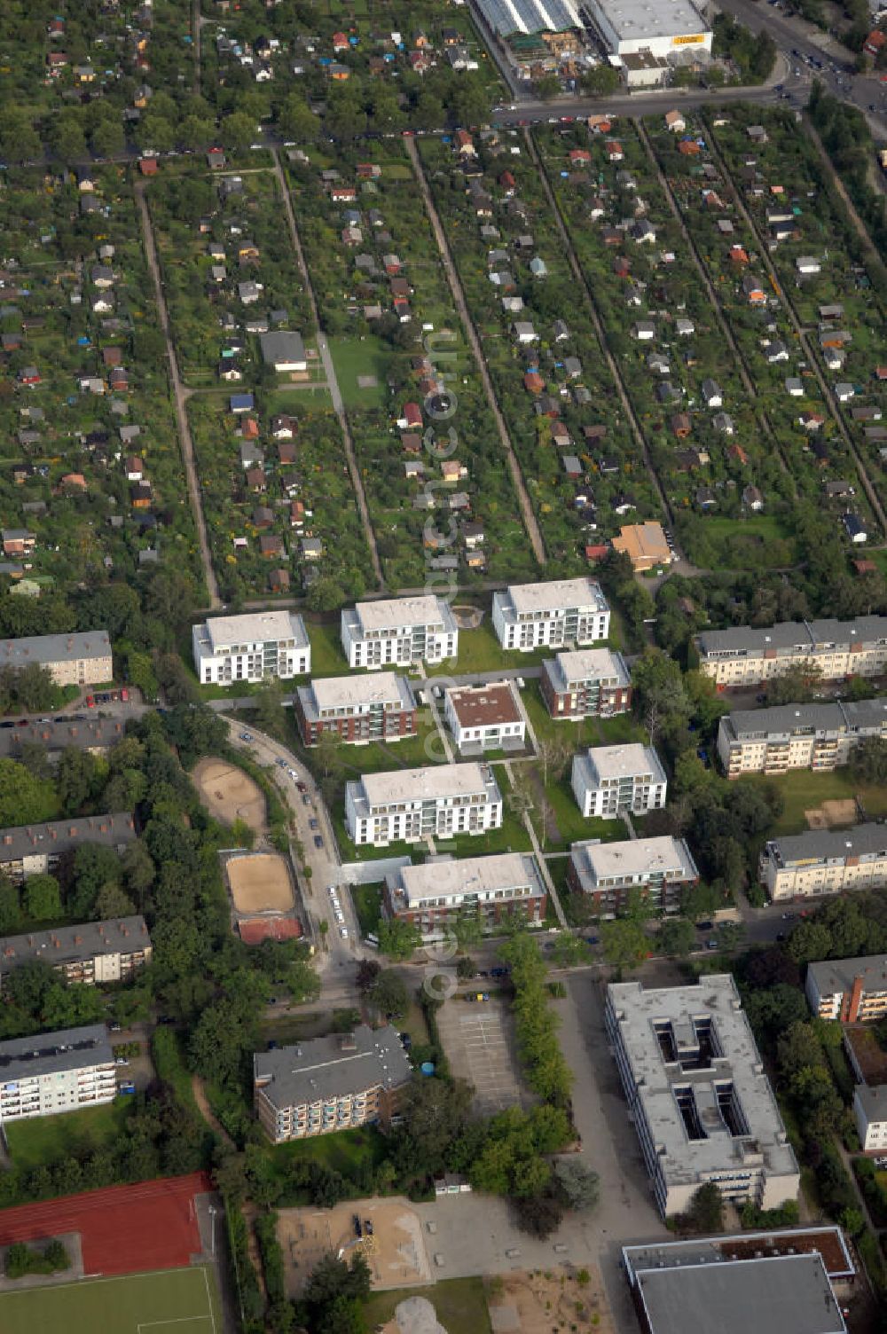
{"label": "middle white apartment building in the row of three bordering the gardens", "polygon": [[341,612],[341,647],[349,667],[439,663],[459,652],[459,627],[443,598],[385,598]]}

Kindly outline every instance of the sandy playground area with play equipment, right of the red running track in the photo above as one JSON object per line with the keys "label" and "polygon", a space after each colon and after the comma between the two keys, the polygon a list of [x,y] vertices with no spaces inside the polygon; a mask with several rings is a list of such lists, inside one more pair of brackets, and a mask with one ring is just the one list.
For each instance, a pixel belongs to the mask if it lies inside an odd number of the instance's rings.
{"label": "sandy playground area with play equipment, right of the red running track", "polygon": [[[405,1199],[372,1199],[359,1205],[360,1219],[372,1221],[372,1237],[360,1243],[373,1287],[416,1287],[431,1282],[421,1223]],[[287,1297],[300,1294],[317,1261],[340,1249],[355,1249],[355,1205],[335,1209],[279,1210],[277,1238],[283,1249]]]}

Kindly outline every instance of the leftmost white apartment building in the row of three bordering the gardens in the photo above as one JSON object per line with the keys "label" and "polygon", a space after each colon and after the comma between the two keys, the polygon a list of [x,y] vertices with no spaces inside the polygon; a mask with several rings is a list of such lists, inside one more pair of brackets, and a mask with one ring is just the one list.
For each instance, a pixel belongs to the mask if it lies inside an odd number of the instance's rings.
{"label": "leftmost white apartment building in the row of three bordering the gardens", "polygon": [[293,611],[213,616],[192,632],[193,664],[204,686],[237,686],[311,671],[305,623]]}

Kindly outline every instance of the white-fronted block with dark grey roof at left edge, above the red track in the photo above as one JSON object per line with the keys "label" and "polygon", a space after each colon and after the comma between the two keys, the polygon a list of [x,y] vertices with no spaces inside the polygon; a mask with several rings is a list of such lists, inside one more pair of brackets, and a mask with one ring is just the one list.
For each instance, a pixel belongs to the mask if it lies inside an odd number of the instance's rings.
{"label": "white-fronted block with dark grey roof at left edge, above the red track", "polygon": [[0,1125],[95,1107],[116,1094],[103,1023],[0,1042]]}

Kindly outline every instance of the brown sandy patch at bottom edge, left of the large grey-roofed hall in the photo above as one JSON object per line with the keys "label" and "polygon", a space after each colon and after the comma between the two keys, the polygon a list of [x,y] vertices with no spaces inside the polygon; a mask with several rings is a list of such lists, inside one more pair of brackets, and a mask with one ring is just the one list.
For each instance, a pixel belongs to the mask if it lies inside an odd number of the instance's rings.
{"label": "brown sandy patch at bottom edge, left of the large grey-roofed hall", "polygon": [[[588,1282],[580,1283],[578,1273],[587,1274]],[[584,1271],[571,1266],[503,1274],[488,1282],[487,1299],[495,1334],[615,1331],[600,1273],[594,1265]]]}

